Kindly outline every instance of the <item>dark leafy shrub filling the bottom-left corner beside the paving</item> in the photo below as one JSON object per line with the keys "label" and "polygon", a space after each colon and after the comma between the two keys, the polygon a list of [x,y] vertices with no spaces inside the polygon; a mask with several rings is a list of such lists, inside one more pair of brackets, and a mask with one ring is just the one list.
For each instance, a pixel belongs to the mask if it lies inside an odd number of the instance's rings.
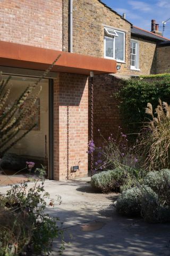
{"label": "dark leafy shrub filling the bottom-left corner beside the paving", "polygon": [[[38,181],[37,181],[38,182]],[[12,186],[6,195],[0,195],[0,255],[16,256],[49,253],[54,238],[63,235],[58,229],[58,218],[44,213],[50,200],[44,183]],[[49,201],[53,206],[54,201]]]}

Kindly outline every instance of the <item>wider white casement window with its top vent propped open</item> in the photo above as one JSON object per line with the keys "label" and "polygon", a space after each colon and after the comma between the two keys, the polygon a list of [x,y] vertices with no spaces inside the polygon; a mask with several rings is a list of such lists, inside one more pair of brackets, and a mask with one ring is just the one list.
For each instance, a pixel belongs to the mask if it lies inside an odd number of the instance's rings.
{"label": "wider white casement window with its top vent propped open", "polygon": [[118,62],[125,62],[125,33],[111,28],[104,29],[104,57]]}

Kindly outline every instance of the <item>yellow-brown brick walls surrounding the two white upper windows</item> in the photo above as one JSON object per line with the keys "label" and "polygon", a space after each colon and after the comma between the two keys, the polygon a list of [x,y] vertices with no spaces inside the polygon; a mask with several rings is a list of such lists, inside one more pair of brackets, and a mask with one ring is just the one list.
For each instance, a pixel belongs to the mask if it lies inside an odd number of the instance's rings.
{"label": "yellow-brown brick walls surrounding the two white upper windows", "polygon": [[[69,1],[63,1],[63,46],[68,51]],[[98,0],[73,1],[73,52],[104,58],[104,26],[125,31],[125,63],[118,63],[119,75],[153,74],[156,71],[155,42],[140,42],[140,71],[130,70],[131,24]]]}

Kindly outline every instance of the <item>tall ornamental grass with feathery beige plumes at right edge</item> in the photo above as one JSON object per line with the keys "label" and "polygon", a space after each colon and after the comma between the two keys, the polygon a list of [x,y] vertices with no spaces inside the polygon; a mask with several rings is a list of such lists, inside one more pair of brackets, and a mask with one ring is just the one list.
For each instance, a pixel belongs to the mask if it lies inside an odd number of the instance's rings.
{"label": "tall ornamental grass with feathery beige plumes at right edge", "polygon": [[161,100],[155,109],[148,103],[146,113],[150,121],[145,123],[139,137],[138,150],[147,170],[170,168],[170,106]]}

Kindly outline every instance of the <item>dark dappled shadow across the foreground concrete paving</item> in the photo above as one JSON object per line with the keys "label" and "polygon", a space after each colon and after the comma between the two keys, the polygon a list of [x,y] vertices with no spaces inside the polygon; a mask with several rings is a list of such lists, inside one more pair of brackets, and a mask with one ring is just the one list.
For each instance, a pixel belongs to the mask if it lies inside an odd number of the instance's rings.
{"label": "dark dappled shadow across the foreground concrete paving", "polygon": [[[113,214],[112,220],[98,220],[103,221],[105,225],[96,231],[83,231],[82,225],[64,229],[64,241],[71,243],[65,244],[64,256],[170,255],[169,225],[150,225],[141,219],[119,217],[116,213]],[[53,255],[56,255],[59,247],[58,241],[54,241]]]}

